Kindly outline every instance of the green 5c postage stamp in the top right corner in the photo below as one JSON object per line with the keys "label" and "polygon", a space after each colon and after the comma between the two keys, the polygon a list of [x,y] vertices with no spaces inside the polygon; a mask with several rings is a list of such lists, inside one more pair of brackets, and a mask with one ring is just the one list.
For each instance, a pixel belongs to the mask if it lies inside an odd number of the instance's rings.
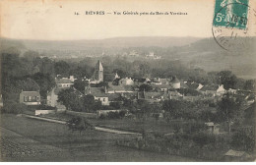
{"label": "green 5c postage stamp in the top right corner", "polygon": [[214,27],[246,29],[249,0],[216,0]]}

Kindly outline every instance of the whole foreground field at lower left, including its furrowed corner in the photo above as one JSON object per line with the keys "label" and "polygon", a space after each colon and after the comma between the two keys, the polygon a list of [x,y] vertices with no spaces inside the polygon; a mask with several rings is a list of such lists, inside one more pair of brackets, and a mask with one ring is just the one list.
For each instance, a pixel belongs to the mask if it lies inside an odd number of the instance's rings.
{"label": "whole foreground field at lower left, including its furrowed corner", "polygon": [[80,136],[65,125],[21,116],[1,115],[1,128],[2,161],[199,161],[115,145],[127,135],[88,131]]}

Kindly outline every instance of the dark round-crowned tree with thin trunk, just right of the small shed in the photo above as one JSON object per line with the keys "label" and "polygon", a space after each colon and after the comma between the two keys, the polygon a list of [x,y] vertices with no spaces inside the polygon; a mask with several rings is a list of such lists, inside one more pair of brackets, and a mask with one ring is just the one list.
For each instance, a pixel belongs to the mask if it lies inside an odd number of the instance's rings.
{"label": "dark round-crowned tree with thin trunk, just right of the small shed", "polygon": [[224,94],[222,100],[218,102],[218,114],[220,119],[228,124],[228,133],[231,132],[231,124],[235,120],[239,120],[242,117],[241,100],[233,97],[230,93]]}

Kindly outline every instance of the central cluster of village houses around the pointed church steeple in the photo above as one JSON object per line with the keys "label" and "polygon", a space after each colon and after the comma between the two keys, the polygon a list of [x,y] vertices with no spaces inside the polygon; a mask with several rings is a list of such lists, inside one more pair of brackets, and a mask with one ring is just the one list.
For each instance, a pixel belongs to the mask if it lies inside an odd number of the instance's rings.
{"label": "central cluster of village houses around the pointed church steeple", "polygon": [[[132,100],[144,99],[150,103],[160,102],[166,99],[204,99],[205,96],[221,96],[224,94],[224,85],[202,85],[200,83],[186,83],[179,81],[176,77],[170,79],[132,79],[120,78],[116,73],[113,80],[107,82],[106,86],[97,87],[96,83],[104,82],[103,67],[100,61],[96,64],[96,72],[94,79],[89,80],[85,87],[85,94],[92,94],[95,99],[100,100],[102,105],[109,105],[120,95]],[[152,87],[151,91],[141,91],[140,86],[147,84]],[[182,89],[190,88],[197,90],[200,94],[197,96],[189,96],[181,94]],[[204,97],[203,97],[204,96]],[[193,98],[193,99],[191,99]]]}

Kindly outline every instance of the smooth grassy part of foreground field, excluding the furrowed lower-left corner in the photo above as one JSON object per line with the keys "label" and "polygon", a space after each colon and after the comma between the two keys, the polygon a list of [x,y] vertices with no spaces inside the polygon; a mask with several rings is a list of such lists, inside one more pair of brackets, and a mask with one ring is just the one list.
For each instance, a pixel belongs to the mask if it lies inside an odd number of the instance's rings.
{"label": "smooth grassy part of foreground field, excluding the furrowed lower-left corner", "polygon": [[[70,156],[63,154],[48,161],[196,161],[172,155],[116,146],[115,139],[127,136],[102,132],[71,133],[65,125],[32,120],[14,115],[1,115],[1,127],[32,138],[44,144],[67,149]],[[3,132],[1,132],[3,134]],[[43,155],[42,155],[43,156]],[[42,158],[41,158],[42,159]],[[45,157],[44,157],[45,159]],[[40,161],[38,158],[36,161]]]}

